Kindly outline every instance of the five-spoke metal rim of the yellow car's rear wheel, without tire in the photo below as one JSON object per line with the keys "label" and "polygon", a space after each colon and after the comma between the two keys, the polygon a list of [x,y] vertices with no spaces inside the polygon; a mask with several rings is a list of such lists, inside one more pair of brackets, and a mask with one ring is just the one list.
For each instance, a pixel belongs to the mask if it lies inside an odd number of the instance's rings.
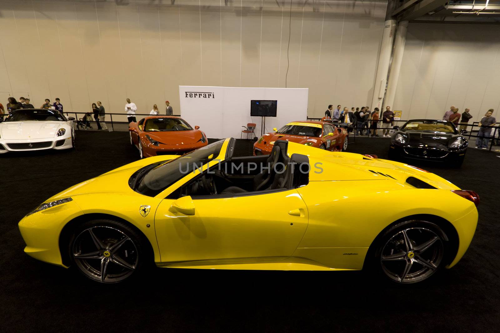
{"label": "five-spoke metal rim of the yellow car's rear wheel, without tire", "polygon": [[380,253],[385,275],[399,283],[427,279],[443,259],[441,236],[430,228],[407,227],[392,234]]}

